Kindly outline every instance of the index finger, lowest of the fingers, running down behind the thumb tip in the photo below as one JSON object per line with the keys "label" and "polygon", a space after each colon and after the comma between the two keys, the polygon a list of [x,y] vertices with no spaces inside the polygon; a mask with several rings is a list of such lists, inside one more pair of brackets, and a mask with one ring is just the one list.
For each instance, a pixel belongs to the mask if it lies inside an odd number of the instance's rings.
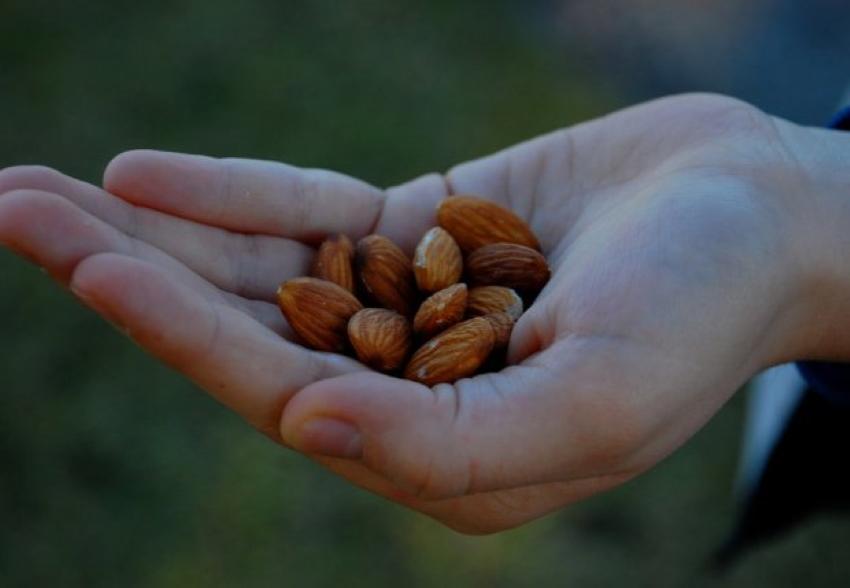
{"label": "index finger, lowest of the fingers, running down behind the thumb tip", "polygon": [[106,253],[83,260],[71,289],[136,343],[182,372],[249,423],[279,439],[289,397],[316,380],[363,369],[308,351],[155,265]]}

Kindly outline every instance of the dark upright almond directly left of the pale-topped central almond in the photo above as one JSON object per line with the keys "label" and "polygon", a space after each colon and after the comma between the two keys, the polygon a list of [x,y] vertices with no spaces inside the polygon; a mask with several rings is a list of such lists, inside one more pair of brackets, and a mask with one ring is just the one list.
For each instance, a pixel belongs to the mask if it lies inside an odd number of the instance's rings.
{"label": "dark upright almond directly left of the pale-topped central almond", "polygon": [[383,235],[357,242],[357,272],[363,288],[380,306],[410,316],[416,298],[413,267],[399,247]]}

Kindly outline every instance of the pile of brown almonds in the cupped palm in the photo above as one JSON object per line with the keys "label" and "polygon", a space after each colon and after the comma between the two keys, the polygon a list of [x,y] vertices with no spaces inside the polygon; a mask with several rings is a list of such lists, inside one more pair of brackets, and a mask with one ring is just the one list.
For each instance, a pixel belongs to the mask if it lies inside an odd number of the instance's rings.
{"label": "pile of brown almonds in the cupped palm", "polygon": [[325,240],[311,277],[277,292],[302,342],[429,386],[502,367],[523,301],[549,281],[540,244],[513,212],[472,196],[443,200],[437,223],[413,260],[382,235]]}

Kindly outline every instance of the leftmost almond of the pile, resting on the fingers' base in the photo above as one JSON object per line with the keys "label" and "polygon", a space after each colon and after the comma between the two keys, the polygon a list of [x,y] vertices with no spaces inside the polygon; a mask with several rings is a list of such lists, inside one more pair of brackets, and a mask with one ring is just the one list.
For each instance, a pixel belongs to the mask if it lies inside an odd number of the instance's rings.
{"label": "leftmost almond of the pile, resting on the fingers' base", "polygon": [[318,278],[295,278],[280,285],[277,300],[292,330],[319,351],[346,349],[348,319],[363,308],[351,292]]}

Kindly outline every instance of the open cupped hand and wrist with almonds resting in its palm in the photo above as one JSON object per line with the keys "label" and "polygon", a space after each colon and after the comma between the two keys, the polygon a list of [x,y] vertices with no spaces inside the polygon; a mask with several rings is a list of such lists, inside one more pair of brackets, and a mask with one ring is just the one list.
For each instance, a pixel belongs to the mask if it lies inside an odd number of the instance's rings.
{"label": "open cupped hand and wrist with almonds resting in its palm", "polygon": [[[324,235],[408,252],[452,193],[512,208],[551,282],[509,367],[427,388],[293,342],[274,299]],[[850,360],[850,139],[667,98],[380,190],[133,151],[104,189],[0,171],[0,242],[259,431],[467,533],[640,474],[755,373]]]}

